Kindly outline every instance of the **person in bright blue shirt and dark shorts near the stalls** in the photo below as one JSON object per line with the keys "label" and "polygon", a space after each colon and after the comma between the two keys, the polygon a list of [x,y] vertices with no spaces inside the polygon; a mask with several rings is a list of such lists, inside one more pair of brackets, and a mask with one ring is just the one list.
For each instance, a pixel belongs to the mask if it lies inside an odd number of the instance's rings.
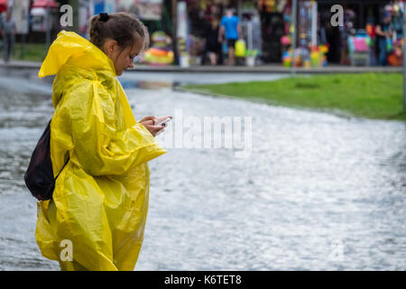
{"label": "person in bright blue shirt and dark shorts near the stalls", "polygon": [[242,36],[240,20],[233,14],[232,9],[226,10],[226,15],[221,18],[218,42],[226,39],[228,48],[228,65],[235,65],[235,42]]}

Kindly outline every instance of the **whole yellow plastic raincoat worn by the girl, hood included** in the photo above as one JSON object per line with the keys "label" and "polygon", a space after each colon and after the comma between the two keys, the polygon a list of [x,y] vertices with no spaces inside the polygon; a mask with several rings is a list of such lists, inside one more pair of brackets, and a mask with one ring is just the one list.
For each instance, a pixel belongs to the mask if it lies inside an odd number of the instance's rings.
{"label": "whole yellow plastic raincoat worn by the girl, hood included", "polygon": [[[60,32],[39,77],[53,74],[55,177],[70,159],[52,200],[38,202],[37,244],[62,270],[134,270],[148,211],[147,162],[166,152],[135,121],[114,63],[91,42]],[[72,262],[63,261],[64,239]]]}

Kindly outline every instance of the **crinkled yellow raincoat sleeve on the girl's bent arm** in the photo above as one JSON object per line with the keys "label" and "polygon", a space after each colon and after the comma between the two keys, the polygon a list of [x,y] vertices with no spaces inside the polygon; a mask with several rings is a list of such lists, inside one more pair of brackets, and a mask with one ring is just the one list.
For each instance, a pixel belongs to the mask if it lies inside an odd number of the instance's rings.
{"label": "crinkled yellow raincoat sleeve on the girl's bent arm", "polygon": [[[123,124],[122,107],[98,80],[83,80],[69,89],[62,111],[72,137],[72,162],[92,175],[123,174],[133,166],[165,154],[140,123],[118,131]],[[121,111],[121,113],[120,113]],[[64,117],[64,118],[65,118]],[[121,125],[123,127],[123,125]]]}

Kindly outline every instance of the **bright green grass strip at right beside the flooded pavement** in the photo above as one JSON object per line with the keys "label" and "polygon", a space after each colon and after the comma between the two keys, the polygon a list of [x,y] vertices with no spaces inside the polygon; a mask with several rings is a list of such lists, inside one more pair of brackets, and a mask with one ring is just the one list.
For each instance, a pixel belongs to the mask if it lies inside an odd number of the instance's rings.
{"label": "bright green grass strip at right beside the flooded pavement", "polygon": [[285,107],[307,107],[338,115],[406,120],[402,112],[402,76],[364,73],[295,77],[214,85],[189,85],[182,89],[262,101]]}

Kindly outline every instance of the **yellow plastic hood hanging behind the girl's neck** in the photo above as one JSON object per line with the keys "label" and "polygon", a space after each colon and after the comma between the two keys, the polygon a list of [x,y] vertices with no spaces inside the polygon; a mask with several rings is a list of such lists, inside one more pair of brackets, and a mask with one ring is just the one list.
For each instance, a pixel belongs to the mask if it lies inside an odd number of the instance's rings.
{"label": "yellow plastic hood hanging behind the girl's neck", "polygon": [[38,77],[57,74],[60,68],[70,64],[85,70],[96,70],[115,77],[115,65],[105,52],[77,33],[60,31],[52,42],[50,50],[42,62]]}

